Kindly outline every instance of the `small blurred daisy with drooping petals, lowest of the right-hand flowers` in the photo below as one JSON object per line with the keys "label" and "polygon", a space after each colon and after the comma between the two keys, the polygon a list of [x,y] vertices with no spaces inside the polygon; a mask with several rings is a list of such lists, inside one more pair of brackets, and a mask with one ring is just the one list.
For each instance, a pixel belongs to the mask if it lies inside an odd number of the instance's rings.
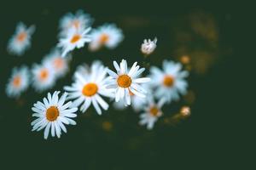
{"label": "small blurred daisy with drooping petals, lowest of the right-hand flowers", "polygon": [[165,99],[160,99],[156,104],[152,97],[148,97],[148,105],[144,107],[144,112],[140,115],[140,125],[147,125],[148,130],[154,127],[154,123],[160,116],[163,115],[161,111],[162,106],[165,104]]}

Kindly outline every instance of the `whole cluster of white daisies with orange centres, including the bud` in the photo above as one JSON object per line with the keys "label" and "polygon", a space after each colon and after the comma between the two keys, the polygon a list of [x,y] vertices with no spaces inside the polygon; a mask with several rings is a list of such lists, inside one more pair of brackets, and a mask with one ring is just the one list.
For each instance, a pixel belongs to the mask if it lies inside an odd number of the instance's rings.
{"label": "whole cluster of white daisies with orange centres, including the bud", "polygon": [[[124,40],[123,32],[116,25],[103,24],[91,28],[93,21],[90,14],[84,14],[82,10],[66,14],[60,21],[56,47],[44,56],[40,64],[32,65],[31,70],[25,65],[14,68],[6,94],[17,99],[30,84],[37,92],[49,90],[57,79],[67,75],[69,61],[73,58],[71,52],[75,48],[83,48],[88,43],[90,51],[113,49]],[[23,54],[30,46],[34,30],[34,26],[26,29],[24,24],[19,24],[10,39],[9,52]],[[156,42],[156,38],[154,41],[145,39],[141,46],[142,53],[152,54]],[[148,75],[145,70],[138,62],[128,65],[126,59],[120,63],[113,61],[113,66],[103,65],[99,60],[91,65],[79,65],[73,73],[73,82],[63,87],[64,94],[60,98],[61,92],[55,91],[48,93],[43,102],[37,101],[32,106],[32,116],[37,117],[31,123],[32,131],[44,129],[44,139],[49,133],[60,138],[61,132],[67,133],[66,125],[76,124],[73,118],[78,112],[86,113],[92,106],[98,115],[102,115],[112,104],[119,110],[131,105],[134,111],[142,113],[139,124],[152,129],[163,116],[162,107],[187,93],[189,72],[183,71],[183,65],[171,60],[164,60],[162,68],[151,65]]]}

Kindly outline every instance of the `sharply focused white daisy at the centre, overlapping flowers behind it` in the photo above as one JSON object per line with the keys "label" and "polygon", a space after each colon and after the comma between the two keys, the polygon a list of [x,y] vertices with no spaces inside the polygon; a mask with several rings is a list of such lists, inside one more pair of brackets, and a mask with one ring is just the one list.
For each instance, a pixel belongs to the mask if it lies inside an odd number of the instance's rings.
{"label": "sharply focused white daisy at the centre, overlapping flowers behind it", "polygon": [[130,92],[142,98],[146,97],[147,91],[140,84],[149,82],[150,78],[138,78],[145,70],[144,68],[139,69],[140,66],[135,62],[130,71],[128,71],[125,59],[122,59],[120,65],[113,61],[113,66],[117,73],[108,69],[108,74],[112,77],[108,81],[108,88],[114,89],[116,102],[119,102],[120,99],[125,99],[125,105],[131,105]]}

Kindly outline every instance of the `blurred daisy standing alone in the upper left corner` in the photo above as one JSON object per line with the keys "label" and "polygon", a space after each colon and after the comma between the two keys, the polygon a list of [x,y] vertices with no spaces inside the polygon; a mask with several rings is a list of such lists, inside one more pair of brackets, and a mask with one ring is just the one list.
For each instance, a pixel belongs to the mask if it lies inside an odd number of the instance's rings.
{"label": "blurred daisy standing alone in the upper left corner", "polygon": [[26,27],[22,22],[18,23],[15,34],[9,39],[7,50],[10,54],[22,55],[31,46],[31,37],[35,26]]}

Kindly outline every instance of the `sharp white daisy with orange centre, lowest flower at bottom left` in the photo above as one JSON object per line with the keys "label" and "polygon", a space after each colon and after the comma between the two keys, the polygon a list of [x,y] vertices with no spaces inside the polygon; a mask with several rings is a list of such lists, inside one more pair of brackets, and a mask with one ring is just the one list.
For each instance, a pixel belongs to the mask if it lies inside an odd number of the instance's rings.
{"label": "sharp white daisy with orange centre, lowest flower at bottom left", "polygon": [[61,138],[61,131],[67,133],[67,128],[64,124],[76,125],[76,122],[71,118],[77,116],[75,112],[78,111],[78,108],[71,107],[71,101],[64,104],[67,93],[62,94],[60,99],[59,94],[60,92],[56,91],[53,95],[48,93],[48,98],[43,99],[44,102],[38,101],[32,107],[34,112],[32,116],[37,117],[31,123],[32,131],[40,131],[44,128],[44,139],[48,138],[49,131],[52,137],[56,135]]}

